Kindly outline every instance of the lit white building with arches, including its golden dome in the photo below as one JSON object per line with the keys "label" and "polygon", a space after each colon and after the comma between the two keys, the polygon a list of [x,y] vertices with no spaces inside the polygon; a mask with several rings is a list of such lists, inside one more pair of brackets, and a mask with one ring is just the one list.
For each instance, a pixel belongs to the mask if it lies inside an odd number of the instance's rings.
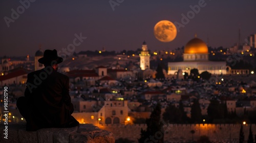
{"label": "lit white building with arches, including its golden dome", "polygon": [[189,74],[190,70],[193,68],[197,68],[199,73],[203,71],[208,71],[216,75],[226,75],[230,73],[231,68],[226,66],[225,61],[209,61],[208,55],[206,43],[195,36],[194,39],[187,42],[184,48],[184,61],[168,63],[168,75],[175,75],[179,69]]}

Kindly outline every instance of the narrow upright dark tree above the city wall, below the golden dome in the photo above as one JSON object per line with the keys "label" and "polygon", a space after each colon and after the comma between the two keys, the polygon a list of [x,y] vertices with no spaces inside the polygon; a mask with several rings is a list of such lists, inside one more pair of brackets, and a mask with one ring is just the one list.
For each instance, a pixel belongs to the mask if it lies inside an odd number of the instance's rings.
{"label": "narrow upright dark tree above the city wall, below the golden dome", "polygon": [[198,100],[195,100],[191,106],[191,121],[194,123],[202,123],[202,111]]}

